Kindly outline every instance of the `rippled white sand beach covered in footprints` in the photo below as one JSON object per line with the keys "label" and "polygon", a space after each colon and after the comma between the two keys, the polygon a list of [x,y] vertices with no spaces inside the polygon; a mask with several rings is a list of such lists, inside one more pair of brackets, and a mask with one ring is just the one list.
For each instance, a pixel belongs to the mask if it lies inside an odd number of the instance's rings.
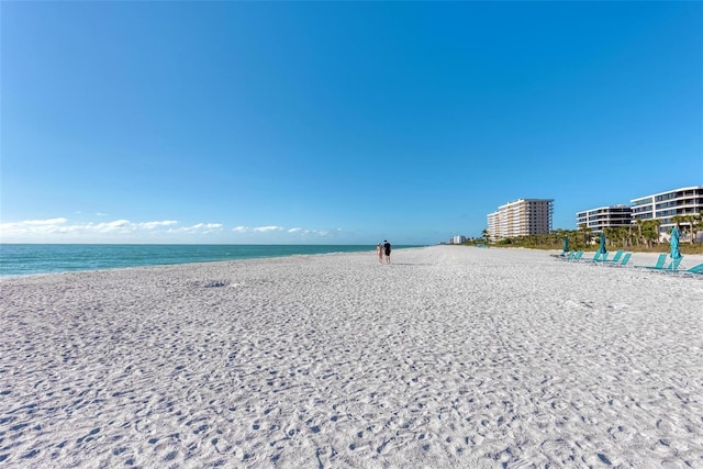
{"label": "rippled white sand beach covered in footprints", "polygon": [[703,468],[703,276],[550,254],[5,278],[0,466]]}

